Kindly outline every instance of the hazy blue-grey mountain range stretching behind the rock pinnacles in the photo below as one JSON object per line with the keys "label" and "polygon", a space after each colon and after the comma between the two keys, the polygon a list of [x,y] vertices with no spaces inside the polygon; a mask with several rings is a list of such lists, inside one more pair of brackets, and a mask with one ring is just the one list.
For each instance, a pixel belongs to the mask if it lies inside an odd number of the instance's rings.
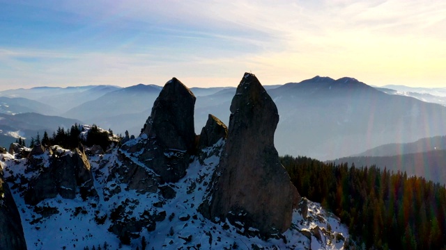
{"label": "hazy blue-grey mountain range stretching behind the rock pinnacles", "polygon": [[[387,86],[390,87],[394,86]],[[128,88],[89,86],[8,90],[0,92],[0,96],[33,96],[59,109],[63,106],[56,103],[78,97],[77,103],[68,101],[70,105],[67,104],[57,115],[111,128],[115,133],[129,131],[139,135],[144,117],[150,113],[151,104],[160,90],[157,85],[139,84]],[[194,113],[197,133],[206,124],[209,113],[229,122],[229,106],[235,88],[191,90],[197,92]],[[334,80],[316,76],[300,83],[266,86],[266,90],[280,112],[275,144],[282,155],[330,160],[382,144],[414,142],[446,134],[441,125],[446,122],[445,106],[401,95],[399,90],[390,92],[385,88],[373,88],[355,78]],[[425,89],[410,90],[426,92]],[[435,93],[441,94],[440,90]],[[36,95],[40,97],[36,98]],[[49,101],[45,102],[45,99]],[[26,133],[25,137],[29,139],[32,135]]]}

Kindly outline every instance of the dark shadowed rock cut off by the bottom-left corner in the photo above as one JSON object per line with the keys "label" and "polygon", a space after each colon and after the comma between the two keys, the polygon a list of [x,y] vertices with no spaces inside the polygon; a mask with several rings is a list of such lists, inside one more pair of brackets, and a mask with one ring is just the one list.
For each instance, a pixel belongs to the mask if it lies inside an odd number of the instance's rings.
{"label": "dark shadowed rock cut off by the bottom-left corner", "polygon": [[26,249],[20,213],[0,173],[0,249]]}

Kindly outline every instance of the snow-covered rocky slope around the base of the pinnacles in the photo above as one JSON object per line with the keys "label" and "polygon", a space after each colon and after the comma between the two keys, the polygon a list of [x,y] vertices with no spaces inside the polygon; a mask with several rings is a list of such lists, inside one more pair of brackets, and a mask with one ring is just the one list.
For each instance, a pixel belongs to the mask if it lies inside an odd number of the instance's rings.
{"label": "snow-covered rocky slope around the base of the pinnacles", "polygon": [[[224,140],[220,140],[205,151],[221,153],[223,144]],[[60,147],[53,151],[71,152]],[[23,194],[26,182],[38,176],[41,169],[29,171],[26,158],[18,159],[8,153],[0,155],[0,159],[22,216],[29,249],[142,249],[144,244],[146,249],[343,249],[348,239],[346,226],[311,201],[294,210],[288,231],[267,241],[240,235],[237,225],[214,224],[205,219],[197,208],[220,162],[220,153],[210,154],[201,163],[192,157],[186,176],[178,183],[167,184],[174,191],[173,197],[130,190],[112,176],[112,169],[123,165],[118,149],[93,155],[89,162],[98,197],[83,200],[77,192],[75,199],[58,196],[36,206],[26,205]],[[53,160],[47,152],[38,157],[44,168]],[[129,241],[128,245],[111,232],[116,224],[141,220],[150,223],[127,235],[124,240]]]}

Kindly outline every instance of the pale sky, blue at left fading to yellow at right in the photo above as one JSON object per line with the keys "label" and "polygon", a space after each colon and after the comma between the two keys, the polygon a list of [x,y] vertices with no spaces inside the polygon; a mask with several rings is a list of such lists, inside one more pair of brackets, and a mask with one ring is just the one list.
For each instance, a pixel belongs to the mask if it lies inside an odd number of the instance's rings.
{"label": "pale sky, blue at left fading to yellow at right", "polygon": [[446,1],[0,0],[0,90],[264,85],[316,75],[446,87]]}

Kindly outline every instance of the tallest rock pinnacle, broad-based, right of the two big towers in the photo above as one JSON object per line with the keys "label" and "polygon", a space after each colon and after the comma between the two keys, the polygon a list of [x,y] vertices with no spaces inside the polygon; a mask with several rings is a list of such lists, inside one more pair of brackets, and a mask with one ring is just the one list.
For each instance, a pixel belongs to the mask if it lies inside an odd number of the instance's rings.
{"label": "tallest rock pinnacle, broad-based, right of the two big towers", "polygon": [[264,238],[291,226],[300,195],[274,147],[278,122],[275,103],[256,76],[245,73],[231,103],[228,139],[210,201],[200,208],[204,216],[228,219],[241,232],[258,230]]}

